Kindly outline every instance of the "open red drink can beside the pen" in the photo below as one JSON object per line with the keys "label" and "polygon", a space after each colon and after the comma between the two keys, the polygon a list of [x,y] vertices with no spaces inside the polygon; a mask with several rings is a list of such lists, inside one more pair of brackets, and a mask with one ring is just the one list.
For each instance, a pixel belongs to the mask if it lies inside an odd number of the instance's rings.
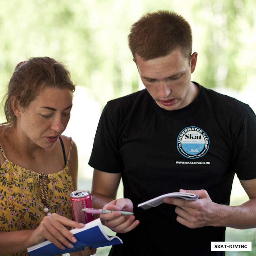
{"label": "open red drink can beside the pen", "polygon": [[89,190],[76,190],[70,194],[73,217],[76,222],[88,223],[94,220],[91,213],[82,211],[83,208],[92,207],[92,196]]}

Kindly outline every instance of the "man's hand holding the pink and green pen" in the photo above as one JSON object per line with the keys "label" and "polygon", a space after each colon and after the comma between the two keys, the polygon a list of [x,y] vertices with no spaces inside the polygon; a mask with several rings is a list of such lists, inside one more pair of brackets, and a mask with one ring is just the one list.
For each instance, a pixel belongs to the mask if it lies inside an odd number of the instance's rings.
{"label": "man's hand holding the pink and green pen", "polygon": [[[130,199],[120,198],[106,204],[103,209],[132,212],[133,204]],[[117,233],[129,232],[140,223],[139,220],[135,220],[134,215],[122,215],[121,212],[100,214],[100,220],[105,221],[106,227]]]}

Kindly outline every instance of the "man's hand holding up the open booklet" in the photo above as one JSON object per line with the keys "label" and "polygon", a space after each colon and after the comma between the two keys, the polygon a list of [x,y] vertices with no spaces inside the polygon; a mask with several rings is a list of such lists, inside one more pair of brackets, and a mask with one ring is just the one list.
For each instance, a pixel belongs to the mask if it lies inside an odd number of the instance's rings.
{"label": "man's hand holding up the open booklet", "polygon": [[177,205],[175,212],[177,221],[188,228],[202,228],[204,226],[218,226],[221,217],[218,208],[220,204],[213,203],[206,190],[184,190],[180,192],[193,193],[199,196],[195,201],[180,198],[165,198],[164,203]]}

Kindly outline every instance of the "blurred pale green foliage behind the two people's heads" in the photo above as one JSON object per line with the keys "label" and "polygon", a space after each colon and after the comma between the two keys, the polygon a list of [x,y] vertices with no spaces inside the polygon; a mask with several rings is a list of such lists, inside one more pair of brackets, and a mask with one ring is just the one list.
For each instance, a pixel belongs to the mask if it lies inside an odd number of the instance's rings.
{"label": "blurred pale green foliage behind the two people's heads", "polygon": [[254,0],[0,0],[1,91],[15,65],[33,56],[64,61],[73,80],[103,105],[139,89],[127,45],[142,14],[169,9],[193,29],[198,52],[192,78],[237,90],[255,80]]}

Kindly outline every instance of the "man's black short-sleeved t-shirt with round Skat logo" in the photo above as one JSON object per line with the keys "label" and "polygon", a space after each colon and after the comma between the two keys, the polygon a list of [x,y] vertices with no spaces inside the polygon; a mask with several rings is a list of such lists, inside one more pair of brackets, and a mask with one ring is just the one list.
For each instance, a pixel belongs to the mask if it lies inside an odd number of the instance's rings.
{"label": "man's black short-sleeved t-shirt with round Skat logo", "polygon": [[196,99],[182,109],[160,108],[144,89],[109,101],[102,112],[89,164],[122,173],[124,197],[140,220],[118,234],[124,244],[112,255],[224,255],[211,252],[211,241],[224,241],[225,227],[187,228],[169,204],[137,208],[180,188],[206,189],[213,202],[229,204],[235,172],[241,180],[256,178],[252,109],[195,84]]}

